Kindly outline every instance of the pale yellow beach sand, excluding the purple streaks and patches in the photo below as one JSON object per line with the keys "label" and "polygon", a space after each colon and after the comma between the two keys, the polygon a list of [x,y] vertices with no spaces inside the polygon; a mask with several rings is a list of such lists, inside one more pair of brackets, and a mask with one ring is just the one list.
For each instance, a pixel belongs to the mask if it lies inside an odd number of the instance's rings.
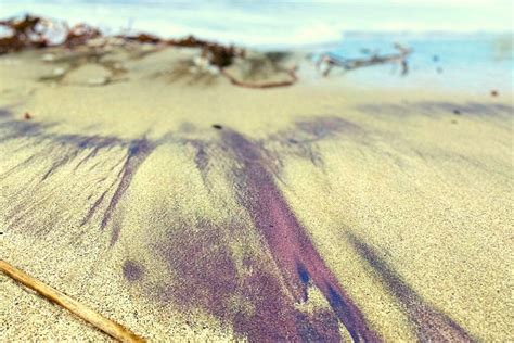
{"label": "pale yellow beach sand, excluding the purple streaks and patches", "polygon": [[[307,63],[301,64],[301,81],[290,88],[243,89],[216,76],[209,85],[194,82],[191,76],[174,79],[177,61],[192,54],[167,49],[131,59],[115,50],[112,59],[128,72],[103,86],[97,84],[110,73],[99,65],[85,64],[61,81],[42,82],[38,78],[59,74],[55,69],[67,64],[42,62],[42,52],[2,55],[0,107],[9,106],[20,120],[28,112],[34,123],[56,123],[47,129],[55,135],[149,140],[171,135],[171,140],[209,142],[217,139],[211,125],[219,124],[260,140],[282,158],[277,185],[292,209],[381,336],[415,339],[401,304],[351,246],[348,234],[380,251],[426,303],[472,336],[514,339],[512,113],[454,115],[438,110],[427,114],[413,105],[472,101],[512,106],[511,93],[491,98],[464,91],[357,91],[344,77],[316,76]],[[402,105],[406,113],[359,107],[384,103]],[[326,116],[360,129],[314,142],[321,166],[280,143],[295,122]],[[18,149],[23,143],[28,148]],[[123,230],[118,242],[108,247],[110,230],[99,229],[100,214],[83,227],[80,220],[92,205],[86,194],[98,196],[115,181],[116,172],[105,170],[115,167],[125,151],[104,151],[74,172],[88,153],[82,152],[77,162],[37,183],[60,153],[59,148],[49,150],[43,144],[30,137],[0,142],[2,175],[40,153],[37,163],[0,178],[0,258],[147,339],[231,339],[231,328],[202,308],[192,309],[191,323],[191,316],[172,302],[149,295],[149,290],[174,284],[174,271],[155,254],[154,245],[172,220],[181,223],[178,236],[191,227],[204,234],[194,219],[198,217],[221,228],[237,221],[248,228],[246,234],[232,236],[228,229],[220,234],[240,272],[248,272],[242,264],[244,254],[269,261],[250,217],[234,199],[226,177],[228,166],[211,166],[209,191],[194,163],[193,147],[159,145],[140,166],[121,200],[123,216],[114,218]],[[48,232],[38,233],[44,229]],[[120,268],[127,258],[146,266],[150,281],[124,280]],[[310,293],[310,303],[303,304],[301,310],[327,308],[318,290]],[[108,340],[4,276],[0,276],[0,341]],[[233,304],[239,310],[253,310],[242,298]]]}

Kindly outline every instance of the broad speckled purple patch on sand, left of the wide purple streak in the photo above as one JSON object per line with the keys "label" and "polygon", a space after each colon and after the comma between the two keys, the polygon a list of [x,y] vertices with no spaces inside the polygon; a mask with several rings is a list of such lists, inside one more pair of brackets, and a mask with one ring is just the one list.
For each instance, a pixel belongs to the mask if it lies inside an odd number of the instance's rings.
{"label": "broad speckled purple patch on sand, left of the wide purple streak", "polygon": [[[268,271],[272,270],[270,262],[246,255],[243,265],[247,272],[240,274],[227,236],[241,239],[247,229],[228,226],[229,230],[198,219],[193,229],[175,223],[159,242],[158,250],[175,275],[158,295],[162,301],[172,301],[185,313],[202,308],[233,328],[241,339],[253,342],[294,341],[298,332],[316,327],[316,321],[300,316],[280,280]],[[323,333],[338,338],[338,328]]]}

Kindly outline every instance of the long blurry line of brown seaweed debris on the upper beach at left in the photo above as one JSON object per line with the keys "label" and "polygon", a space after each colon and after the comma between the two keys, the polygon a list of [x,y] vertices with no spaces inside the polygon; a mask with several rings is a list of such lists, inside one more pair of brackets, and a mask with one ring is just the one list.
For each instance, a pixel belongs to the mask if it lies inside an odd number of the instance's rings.
{"label": "long blurry line of brown seaweed debris on the upper beach at left", "polygon": [[[8,21],[0,22],[0,26],[5,27],[10,30],[10,35],[0,38],[0,53],[20,51],[23,49],[35,49],[35,48],[49,48],[49,47],[64,47],[69,50],[75,50],[80,47],[87,47],[92,51],[86,53],[92,53],[91,56],[70,55],[66,59],[70,60],[69,66],[64,68],[54,69],[54,74],[51,76],[44,76],[41,80],[51,80],[60,82],[64,77],[73,69],[78,68],[80,65],[86,63],[101,64],[107,68],[113,77],[107,79],[95,80],[94,82],[88,82],[90,86],[102,86],[113,81],[123,80],[118,76],[126,71],[123,67],[116,66],[107,61],[102,61],[103,54],[108,52],[108,46],[114,41],[116,46],[123,46],[124,42],[140,42],[144,45],[154,45],[157,47],[180,47],[180,48],[197,48],[201,50],[201,54],[197,59],[194,59],[193,68],[190,68],[190,73],[203,74],[208,72],[213,75],[220,75],[227,78],[232,85],[244,87],[244,88],[275,88],[286,87],[295,84],[298,78],[296,76],[297,67],[283,68],[275,67],[275,72],[285,73],[288,76],[286,80],[268,81],[268,82],[250,82],[245,79],[240,79],[235,75],[227,71],[228,67],[234,64],[237,59],[246,59],[246,50],[235,47],[233,45],[224,46],[214,41],[198,39],[194,36],[188,36],[180,39],[163,39],[151,34],[138,34],[138,35],[117,35],[117,36],[104,36],[99,28],[87,24],[77,24],[73,27],[68,27],[66,24],[59,26],[63,35],[63,39],[60,41],[51,40],[47,34],[50,28],[57,28],[51,21],[43,20],[39,16],[26,15],[22,20],[11,18]],[[80,49],[78,49],[80,50]],[[150,52],[158,51],[154,49]],[[280,60],[281,55],[266,55],[266,59],[278,65],[277,61]],[[274,60],[273,60],[274,59]],[[42,56],[44,62],[62,63],[62,59],[57,59],[53,53],[47,53]],[[74,61],[72,61],[74,60]],[[252,61],[250,61],[252,62]],[[255,73],[254,73],[255,74]],[[201,76],[203,77],[203,76]]]}

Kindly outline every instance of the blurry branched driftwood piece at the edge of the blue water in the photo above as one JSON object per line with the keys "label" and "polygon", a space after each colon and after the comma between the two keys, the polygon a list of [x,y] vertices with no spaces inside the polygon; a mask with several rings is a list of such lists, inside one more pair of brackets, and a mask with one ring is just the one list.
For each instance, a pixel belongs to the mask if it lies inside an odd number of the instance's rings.
{"label": "blurry branched driftwood piece at the edge of the blue water", "polygon": [[317,62],[317,68],[322,72],[323,76],[329,76],[334,66],[345,71],[354,71],[361,67],[391,63],[399,64],[401,66],[401,75],[407,75],[409,73],[407,59],[412,50],[399,43],[395,43],[394,48],[398,50],[398,53],[380,55],[377,52],[373,52],[369,58],[362,59],[344,59],[335,54],[322,54]]}

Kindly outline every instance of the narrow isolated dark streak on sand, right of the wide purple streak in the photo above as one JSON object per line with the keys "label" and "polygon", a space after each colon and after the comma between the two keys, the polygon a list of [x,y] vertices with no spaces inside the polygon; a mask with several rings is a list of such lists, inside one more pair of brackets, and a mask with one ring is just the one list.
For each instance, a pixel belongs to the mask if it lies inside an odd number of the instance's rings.
{"label": "narrow isolated dark streak on sand, right of the wide purple streak", "polygon": [[472,336],[455,321],[427,304],[380,256],[378,252],[354,234],[348,240],[369,263],[387,290],[402,304],[410,322],[422,342],[472,342]]}

